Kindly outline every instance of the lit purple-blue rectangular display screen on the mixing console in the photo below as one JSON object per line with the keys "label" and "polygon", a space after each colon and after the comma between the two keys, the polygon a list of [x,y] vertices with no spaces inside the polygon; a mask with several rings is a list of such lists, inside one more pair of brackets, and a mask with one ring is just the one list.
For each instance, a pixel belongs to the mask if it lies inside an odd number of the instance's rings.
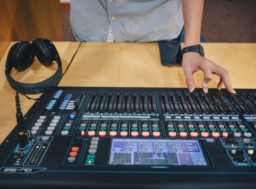
{"label": "lit purple-blue rectangular display screen on the mixing console", "polygon": [[110,165],[207,166],[197,140],[113,139]]}

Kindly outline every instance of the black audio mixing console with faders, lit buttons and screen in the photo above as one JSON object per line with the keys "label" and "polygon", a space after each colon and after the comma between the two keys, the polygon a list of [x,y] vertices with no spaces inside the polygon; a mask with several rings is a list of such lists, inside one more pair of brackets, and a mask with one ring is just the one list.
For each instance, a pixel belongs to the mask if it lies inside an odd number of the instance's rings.
{"label": "black audio mixing console with faders, lit buttons and screen", "polygon": [[[50,87],[0,188],[256,188],[256,90]],[[255,149],[255,150],[254,150]]]}

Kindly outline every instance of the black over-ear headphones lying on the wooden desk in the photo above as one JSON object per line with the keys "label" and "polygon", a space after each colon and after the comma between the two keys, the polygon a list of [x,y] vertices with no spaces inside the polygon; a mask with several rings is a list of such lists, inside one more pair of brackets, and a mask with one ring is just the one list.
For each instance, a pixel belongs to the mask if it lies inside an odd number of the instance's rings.
{"label": "black over-ear headphones lying on the wooden desk", "polygon": [[[18,71],[26,70],[32,65],[35,55],[44,66],[50,66],[55,60],[58,64],[55,74],[39,83],[20,83],[15,81],[10,75],[11,70],[13,68]],[[12,89],[24,94],[43,93],[47,87],[55,86],[62,76],[62,63],[55,45],[53,45],[52,41],[42,38],[33,40],[32,44],[28,41],[15,43],[8,53],[5,76]]]}

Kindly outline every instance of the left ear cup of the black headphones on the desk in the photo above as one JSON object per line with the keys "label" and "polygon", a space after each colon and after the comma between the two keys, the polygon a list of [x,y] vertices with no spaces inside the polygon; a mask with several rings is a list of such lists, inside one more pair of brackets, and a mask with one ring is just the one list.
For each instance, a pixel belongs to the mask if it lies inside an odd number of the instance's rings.
{"label": "left ear cup of the black headphones on the desk", "polygon": [[10,56],[12,65],[18,71],[24,71],[33,63],[35,56],[33,46],[28,41],[21,41],[14,45]]}

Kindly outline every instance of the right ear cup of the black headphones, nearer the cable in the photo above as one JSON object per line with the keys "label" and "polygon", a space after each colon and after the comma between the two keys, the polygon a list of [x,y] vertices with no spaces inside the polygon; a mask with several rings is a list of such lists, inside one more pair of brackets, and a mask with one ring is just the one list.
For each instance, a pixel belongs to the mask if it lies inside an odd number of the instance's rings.
{"label": "right ear cup of the black headphones, nearer the cable", "polygon": [[36,57],[44,66],[50,66],[53,62],[52,50],[49,49],[47,42],[42,38],[32,41],[35,49]]}

